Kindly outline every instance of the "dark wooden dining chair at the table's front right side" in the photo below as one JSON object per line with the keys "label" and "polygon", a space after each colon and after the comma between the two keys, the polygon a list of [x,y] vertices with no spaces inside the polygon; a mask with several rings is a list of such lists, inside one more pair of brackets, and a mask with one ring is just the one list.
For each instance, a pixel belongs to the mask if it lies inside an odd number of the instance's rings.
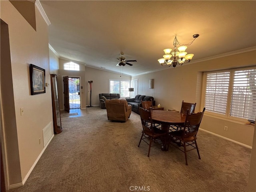
{"label": "dark wooden dining chair at the table's front right side", "polygon": [[[172,144],[173,146],[175,146],[176,148],[184,152],[186,165],[188,165],[188,160],[187,160],[188,151],[196,149],[198,158],[201,159],[198,146],[196,143],[196,139],[197,139],[196,135],[204,115],[204,110],[202,112],[191,113],[191,114],[189,113],[189,110],[187,110],[186,120],[182,130],[177,130],[169,133],[170,142],[168,143],[168,148],[169,148],[169,144]],[[188,146],[190,147],[189,150],[187,149]],[[180,147],[183,147],[184,150],[182,150]]]}

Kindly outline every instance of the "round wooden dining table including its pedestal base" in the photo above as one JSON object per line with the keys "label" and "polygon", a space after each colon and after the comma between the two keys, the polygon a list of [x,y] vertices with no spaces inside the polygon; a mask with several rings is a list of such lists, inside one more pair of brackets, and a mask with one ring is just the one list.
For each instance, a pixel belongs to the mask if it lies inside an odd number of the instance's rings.
{"label": "round wooden dining table including its pedestal base", "polygon": [[[156,124],[161,124],[161,129],[169,132],[171,125],[182,125],[185,123],[186,114],[174,112],[174,111],[164,111],[164,110],[152,110],[151,113],[152,122]],[[162,150],[167,151],[168,136],[162,140],[163,146]]]}

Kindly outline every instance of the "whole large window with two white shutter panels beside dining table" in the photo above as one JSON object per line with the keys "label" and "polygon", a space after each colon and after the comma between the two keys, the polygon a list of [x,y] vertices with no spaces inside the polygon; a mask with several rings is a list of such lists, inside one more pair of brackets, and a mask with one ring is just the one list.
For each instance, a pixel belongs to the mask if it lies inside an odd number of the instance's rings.
{"label": "whole large window with two white shutter panels beside dining table", "polygon": [[237,120],[255,120],[255,68],[205,72],[204,90],[206,112]]}

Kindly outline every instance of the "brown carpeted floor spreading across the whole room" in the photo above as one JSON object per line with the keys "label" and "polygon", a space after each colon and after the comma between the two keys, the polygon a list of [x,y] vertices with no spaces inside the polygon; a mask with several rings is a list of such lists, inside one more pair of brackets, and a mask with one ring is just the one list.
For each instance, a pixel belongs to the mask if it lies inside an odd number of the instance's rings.
{"label": "brown carpeted floor spreading across the whole room", "polygon": [[[184,153],[142,142],[140,116],[107,120],[106,109],[87,108],[86,116],[63,118],[24,186],[10,192],[246,192],[251,150],[198,132],[198,147]],[[135,190],[137,189],[137,190]]]}

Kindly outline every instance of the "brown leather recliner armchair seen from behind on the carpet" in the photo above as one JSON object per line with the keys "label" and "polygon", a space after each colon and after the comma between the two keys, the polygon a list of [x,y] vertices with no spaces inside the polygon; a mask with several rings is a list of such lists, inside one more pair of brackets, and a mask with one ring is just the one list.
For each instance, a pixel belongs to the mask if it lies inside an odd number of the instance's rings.
{"label": "brown leather recliner armchair seen from behind on the carpet", "polygon": [[132,106],[123,99],[107,99],[105,101],[108,120],[127,121],[132,112]]}

